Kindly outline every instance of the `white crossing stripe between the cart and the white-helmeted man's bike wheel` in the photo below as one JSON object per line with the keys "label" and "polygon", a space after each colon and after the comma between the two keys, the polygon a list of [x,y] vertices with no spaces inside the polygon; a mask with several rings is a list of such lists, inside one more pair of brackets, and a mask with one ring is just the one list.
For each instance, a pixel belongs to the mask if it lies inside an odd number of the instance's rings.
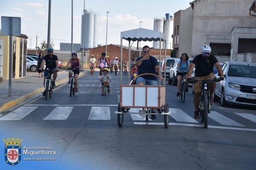
{"label": "white crossing stripe between the cart and the white-helmeted man's bike wheel", "polygon": [[169,110],[172,112],[170,116],[172,116],[173,119],[175,119],[177,122],[198,123],[195,119],[193,119],[191,116],[189,116],[187,113],[185,113],[181,109],[169,108]]}

